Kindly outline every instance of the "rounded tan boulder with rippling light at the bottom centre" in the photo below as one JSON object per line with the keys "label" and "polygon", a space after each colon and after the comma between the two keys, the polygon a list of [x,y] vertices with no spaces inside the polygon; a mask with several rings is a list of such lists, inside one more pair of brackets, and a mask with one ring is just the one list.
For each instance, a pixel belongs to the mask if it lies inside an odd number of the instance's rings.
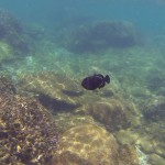
{"label": "rounded tan boulder with rippling light at the bottom centre", "polygon": [[52,165],[139,165],[133,146],[118,146],[112,134],[96,124],[67,130],[59,140]]}

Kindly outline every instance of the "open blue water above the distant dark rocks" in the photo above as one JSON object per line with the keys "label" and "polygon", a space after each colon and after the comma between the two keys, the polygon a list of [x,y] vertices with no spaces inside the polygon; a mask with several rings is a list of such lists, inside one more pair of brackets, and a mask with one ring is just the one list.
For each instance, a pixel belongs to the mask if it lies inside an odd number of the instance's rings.
{"label": "open blue water above the distant dark rocks", "polygon": [[94,16],[98,19],[128,20],[139,28],[146,30],[163,30],[164,25],[163,0],[41,0],[22,2],[21,0],[1,1],[1,8],[10,10],[23,22],[48,23],[54,25],[63,19],[75,15]]}

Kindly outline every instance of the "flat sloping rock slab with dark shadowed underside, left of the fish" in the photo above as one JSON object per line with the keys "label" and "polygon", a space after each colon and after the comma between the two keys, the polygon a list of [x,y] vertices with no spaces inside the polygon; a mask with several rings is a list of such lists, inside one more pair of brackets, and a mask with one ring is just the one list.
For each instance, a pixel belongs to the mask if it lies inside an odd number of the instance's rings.
{"label": "flat sloping rock slab with dark shadowed underside, left of the fish", "polygon": [[36,94],[41,103],[56,111],[73,111],[81,101],[81,88],[76,80],[55,73],[22,75],[20,90]]}

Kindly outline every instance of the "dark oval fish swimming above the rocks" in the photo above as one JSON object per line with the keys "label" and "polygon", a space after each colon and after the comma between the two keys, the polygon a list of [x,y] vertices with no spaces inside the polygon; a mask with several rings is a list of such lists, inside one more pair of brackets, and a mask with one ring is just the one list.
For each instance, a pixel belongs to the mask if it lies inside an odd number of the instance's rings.
{"label": "dark oval fish swimming above the rocks", "polygon": [[81,86],[87,90],[95,90],[105,87],[106,82],[110,82],[110,77],[108,75],[103,77],[101,74],[97,74],[86,77],[82,80]]}

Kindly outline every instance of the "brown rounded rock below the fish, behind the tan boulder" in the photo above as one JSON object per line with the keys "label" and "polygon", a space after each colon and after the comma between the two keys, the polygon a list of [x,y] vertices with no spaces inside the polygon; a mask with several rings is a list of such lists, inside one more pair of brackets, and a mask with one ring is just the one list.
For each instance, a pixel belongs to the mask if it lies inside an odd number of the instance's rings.
{"label": "brown rounded rock below the fish, behind the tan boulder", "polygon": [[128,118],[128,110],[121,101],[111,99],[109,102],[96,102],[91,107],[90,114],[110,131],[127,129],[131,121]]}

